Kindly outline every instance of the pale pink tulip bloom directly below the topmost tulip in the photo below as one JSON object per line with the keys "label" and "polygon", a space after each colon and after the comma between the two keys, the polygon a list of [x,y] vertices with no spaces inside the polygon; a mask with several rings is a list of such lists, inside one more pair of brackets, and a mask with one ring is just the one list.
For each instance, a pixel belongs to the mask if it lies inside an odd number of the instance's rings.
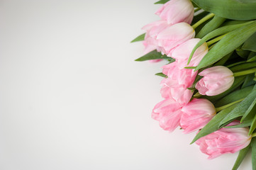
{"label": "pale pink tulip bloom directly below the topmost tulip", "polygon": [[188,23],[176,23],[162,30],[157,35],[157,43],[161,51],[172,57],[172,51],[183,42],[194,38],[195,31]]}

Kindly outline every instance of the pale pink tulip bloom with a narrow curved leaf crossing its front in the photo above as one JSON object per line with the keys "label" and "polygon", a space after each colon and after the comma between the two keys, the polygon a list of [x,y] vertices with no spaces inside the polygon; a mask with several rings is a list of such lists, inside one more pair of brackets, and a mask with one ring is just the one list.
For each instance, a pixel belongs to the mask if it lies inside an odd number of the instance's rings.
{"label": "pale pink tulip bloom with a narrow curved leaf crossing its front", "polygon": [[180,68],[197,66],[199,62],[201,62],[202,58],[207,54],[208,45],[206,44],[206,42],[204,42],[203,45],[196,49],[191,61],[189,62],[189,65],[187,65],[192,50],[200,40],[201,39],[199,38],[192,38],[190,40],[187,40],[186,42],[179,45],[172,52],[172,58],[174,58],[175,61],[178,62]]}

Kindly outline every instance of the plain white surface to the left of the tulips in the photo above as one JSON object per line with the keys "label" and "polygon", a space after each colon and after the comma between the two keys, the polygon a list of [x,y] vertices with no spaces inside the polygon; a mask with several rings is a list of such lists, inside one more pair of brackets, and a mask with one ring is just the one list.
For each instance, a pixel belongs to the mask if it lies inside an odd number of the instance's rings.
{"label": "plain white surface to the left of the tulips", "polygon": [[129,42],[154,2],[0,1],[0,169],[232,168],[150,118],[164,62],[134,62]]}

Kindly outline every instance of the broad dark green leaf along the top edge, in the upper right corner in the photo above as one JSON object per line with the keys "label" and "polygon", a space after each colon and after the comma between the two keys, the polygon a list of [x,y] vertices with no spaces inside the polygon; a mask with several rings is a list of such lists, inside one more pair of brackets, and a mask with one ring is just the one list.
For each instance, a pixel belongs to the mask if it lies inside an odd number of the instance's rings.
{"label": "broad dark green leaf along the top edge, in the upper right corner", "polygon": [[215,13],[217,16],[233,20],[252,20],[256,18],[255,0],[193,0],[196,5]]}

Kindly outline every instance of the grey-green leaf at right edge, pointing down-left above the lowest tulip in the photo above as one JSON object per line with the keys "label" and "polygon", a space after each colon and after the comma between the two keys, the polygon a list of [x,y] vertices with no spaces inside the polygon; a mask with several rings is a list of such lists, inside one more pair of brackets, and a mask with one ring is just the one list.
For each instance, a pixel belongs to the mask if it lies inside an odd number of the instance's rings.
{"label": "grey-green leaf at right edge, pointing down-left above the lowest tulip", "polygon": [[256,98],[256,90],[253,89],[252,92],[245,98],[245,100],[243,100],[241,103],[239,103],[238,106],[235,107],[233,109],[233,111],[231,111],[226,116],[226,118],[223,118],[223,120],[221,121],[219,126],[223,126],[224,124],[226,124],[230,120],[233,120],[235,118],[243,116],[245,114],[245,112],[247,111],[247,109],[252,104],[252,102],[255,100],[255,98]]}

